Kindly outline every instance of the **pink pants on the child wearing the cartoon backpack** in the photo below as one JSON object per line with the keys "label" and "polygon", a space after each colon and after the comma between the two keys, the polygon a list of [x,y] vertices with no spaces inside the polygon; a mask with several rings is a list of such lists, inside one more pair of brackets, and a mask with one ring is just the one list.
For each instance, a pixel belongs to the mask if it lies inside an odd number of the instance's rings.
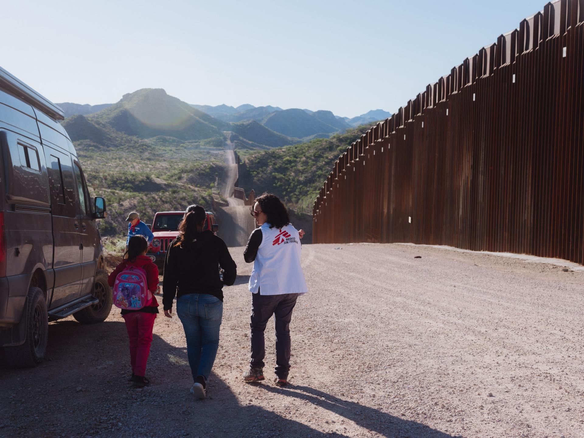
{"label": "pink pants on the child wearing the cartoon backpack", "polygon": [[135,376],[144,376],[152,343],[155,313],[133,312],[124,315],[130,338],[130,361]]}

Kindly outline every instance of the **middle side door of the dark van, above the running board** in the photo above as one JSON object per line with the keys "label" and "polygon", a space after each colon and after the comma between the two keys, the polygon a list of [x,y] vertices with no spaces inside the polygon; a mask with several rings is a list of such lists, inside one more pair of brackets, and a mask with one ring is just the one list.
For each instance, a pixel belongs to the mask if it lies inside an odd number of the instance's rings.
{"label": "middle side door of the dark van, above the running board", "polygon": [[68,152],[44,146],[53,208],[55,289],[50,307],[79,296],[82,267],[77,190]]}

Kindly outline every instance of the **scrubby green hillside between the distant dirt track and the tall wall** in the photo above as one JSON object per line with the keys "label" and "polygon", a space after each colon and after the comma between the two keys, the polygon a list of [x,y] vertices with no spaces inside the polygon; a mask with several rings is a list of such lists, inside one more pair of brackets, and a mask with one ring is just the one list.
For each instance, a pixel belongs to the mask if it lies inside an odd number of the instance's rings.
{"label": "scrubby green hillside between the distant dirt track and the tall wall", "polygon": [[368,124],[331,138],[248,154],[239,180],[246,189],[271,191],[294,209],[312,213],[312,204],[333,163],[370,127]]}

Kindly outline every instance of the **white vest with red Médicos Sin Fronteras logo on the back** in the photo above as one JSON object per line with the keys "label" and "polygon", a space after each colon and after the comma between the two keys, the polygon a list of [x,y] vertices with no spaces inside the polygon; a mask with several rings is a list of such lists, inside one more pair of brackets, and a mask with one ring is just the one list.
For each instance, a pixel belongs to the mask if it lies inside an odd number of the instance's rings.
{"label": "white vest with red M\u00e9dicos Sin Fronteras logo on the back", "polygon": [[249,290],[262,295],[304,294],[308,292],[300,266],[298,231],[291,224],[278,230],[263,224],[262,244],[253,262]]}

